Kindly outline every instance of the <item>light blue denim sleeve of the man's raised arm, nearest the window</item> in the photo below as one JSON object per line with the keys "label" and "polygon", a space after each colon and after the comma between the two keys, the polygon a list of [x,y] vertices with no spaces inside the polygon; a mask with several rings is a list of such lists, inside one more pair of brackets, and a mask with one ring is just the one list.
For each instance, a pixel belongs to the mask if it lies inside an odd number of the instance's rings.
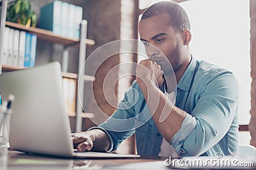
{"label": "light blue denim sleeve of the man's raised arm, nearest the window", "polygon": [[200,155],[227,133],[237,112],[239,87],[230,72],[201,83],[200,97],[170,144],[182,156]]}

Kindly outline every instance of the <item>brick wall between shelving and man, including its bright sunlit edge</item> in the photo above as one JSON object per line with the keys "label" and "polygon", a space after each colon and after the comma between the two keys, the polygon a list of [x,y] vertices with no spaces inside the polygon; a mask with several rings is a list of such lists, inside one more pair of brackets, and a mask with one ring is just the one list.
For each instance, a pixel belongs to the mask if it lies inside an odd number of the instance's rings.
{"label": "brick wall between shelving and man, including its bright sunlit edge", "polygon": [[[134,38],[134,25],[137,24],[134,21],[134,1],[124,1],[124,0],[87,0],[87,4],[84,6],[88,9],[88,38],[95,39],[96,44],[94,46],[88,46],[87,56],[93,52],[93,50],[99,48],[100,46],[123,38]],[[121,9],[122,8],[122,9]],[[122,10],[122,11],[121,11]],[[131,16],[130,16],[131,15]],[[124,20],[124,18],[127,18]],[[121,24],[123,20],[124,24]],[[97,56],[95,58],[95,63],[102,60],[104,56]],[[121,59],[120,59],[121,58]],[[128,56],[131,58],[132,56]],[[127,58],[126,58],[127,59]],[[93,94],[90,94],[88,90],[85,90],[85,101],[84,106],[86,111],[95,114],[93,120],[102,119],[102,113],[111,115],[118,104],[118,99],[122,99],[124,96],[124,91],[126,91],[131,86],[131,78],[120,78],[118,80],[118,73],[122,71],[122,68],[118,67],[116,71],[112,71],[115,66],[122,62],[121,55],[113,55],[108,60],[104,61],[103,64],[97,70],[95,74],[96,80],[92,83],[85,83],[86,89],[93,88]],[[90,74],[92,68],[97,67],[97,64],[90,63],[86,65],[86,73]],[[111,76],[106,78],[106,74],[111,71]],[[125,70],[127,71],[127,70]],[[104,80],[105,79],[105,80]],[[117,81],[118,80],[118,81]],[[103,81],[108,84],[103,90]],[[125,82],[124,82],[125,81]],[[115,88],[111,82],[116,82]],[[125,88],[127,87],[127,88]],[[120,90],[122,89],[122,90]],[[114,90],[114,91],[113,91]],[[115,94],[115,96],[114,96]],[[120,98],[120,95],[122,96]],[[108,101],[104,96],[108,97]],[[97,102],[95,104],[94,99]],[[111,103],[111,104],[109,104]],[[114,106],[114,107],[113,107]],[[100,110],[99,110],[100,109]],[[104,120],[104,119],[102,119]],[[85,119],[83,124],[83,130],[92,127],[94,121]],[[134,153],[134,136],[126,139],[118,148],[116,152],[119,153]]]}

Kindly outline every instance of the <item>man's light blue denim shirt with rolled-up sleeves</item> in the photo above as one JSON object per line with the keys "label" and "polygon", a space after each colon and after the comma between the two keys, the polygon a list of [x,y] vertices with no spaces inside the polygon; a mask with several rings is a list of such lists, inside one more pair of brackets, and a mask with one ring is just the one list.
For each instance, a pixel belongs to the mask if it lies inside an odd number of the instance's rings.
{"label": "man's light blue denim shirt with rolled-up sleeves", "polygon": [[[170,142],[176,152],[181,156],[237,152],[239,87],[234,74],[192,58],[176,90],[175,106],[187,112]],[[138,154],[158,155],[163,139],[136,81],[115,113],[91,129],[106,132],[108,152],[135,132]]]}

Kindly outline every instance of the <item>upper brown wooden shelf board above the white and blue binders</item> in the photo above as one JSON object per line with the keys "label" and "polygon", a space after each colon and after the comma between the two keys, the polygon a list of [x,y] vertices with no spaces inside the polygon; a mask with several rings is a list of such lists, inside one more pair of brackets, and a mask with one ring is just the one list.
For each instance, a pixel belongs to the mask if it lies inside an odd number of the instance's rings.
{"label": "upper brown wooden shelf board above the white and blue binders", "polygon": [[[28,31],[37,35],[38,39],[42,39],[45,41],[49,41],[51,43],[59,43],[61,45],[76,45],[79,43],[79,39],[67,38],[57,34],[54,34],[52,31],[48,31],[45,29],[40,29],[36,27],[26,27],[22,24],[17,24],[14,22],[6,21],[6,26],[12,27],[14,29],[19,29],[22,31]],[[95,45],[95,41],[93,39],[86,39],[87,45]]]}

